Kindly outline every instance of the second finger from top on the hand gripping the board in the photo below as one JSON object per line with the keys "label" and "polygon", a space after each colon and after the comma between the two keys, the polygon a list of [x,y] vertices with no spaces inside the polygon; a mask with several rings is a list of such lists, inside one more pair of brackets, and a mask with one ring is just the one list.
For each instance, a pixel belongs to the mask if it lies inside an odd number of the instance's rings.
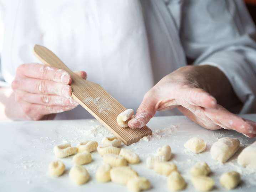
{"label": "second finger from top on the hand gripping the board", "polygon": [[11,87],[14,90],[17,89],[42,95],[60,95],[66,98],[71,98],[72,93],[72,88],[70,85],[31,78],[15,79],[12,82]]}

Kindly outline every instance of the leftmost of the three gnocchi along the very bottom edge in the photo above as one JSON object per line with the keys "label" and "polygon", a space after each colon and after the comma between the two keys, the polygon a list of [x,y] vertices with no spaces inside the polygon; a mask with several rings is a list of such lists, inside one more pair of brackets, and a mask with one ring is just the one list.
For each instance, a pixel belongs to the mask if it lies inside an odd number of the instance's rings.
{"label": "leftmost of the three gnocchi along the very bottom edge", "polygon": [[148,190],[151,183],[145,177],[134,177],[127,182],[127,188],[132,192]]}

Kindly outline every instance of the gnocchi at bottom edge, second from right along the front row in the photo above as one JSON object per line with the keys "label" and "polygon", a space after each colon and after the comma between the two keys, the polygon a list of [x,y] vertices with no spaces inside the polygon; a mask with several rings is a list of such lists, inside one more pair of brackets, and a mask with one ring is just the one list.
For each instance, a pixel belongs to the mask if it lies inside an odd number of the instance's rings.
{"label": "gnocchi at bottom edge, second from right along the front row", "polygon": [[214,186],[214,180],[211,177],[196,176],[192,177],[191,181],[198,191],[210,191]]}

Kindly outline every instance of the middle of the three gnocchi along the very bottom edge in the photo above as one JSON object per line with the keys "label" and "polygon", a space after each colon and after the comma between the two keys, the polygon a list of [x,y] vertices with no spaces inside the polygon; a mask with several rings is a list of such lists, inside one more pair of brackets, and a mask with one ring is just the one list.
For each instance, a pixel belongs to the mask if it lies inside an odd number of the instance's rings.
{"label": "middle of the three gnocchi along the very bottom edge", "polygon": [[173,171],[167,178],[167,185],[171,191],[180,191],[186,187],[186,182],[180,173]]}

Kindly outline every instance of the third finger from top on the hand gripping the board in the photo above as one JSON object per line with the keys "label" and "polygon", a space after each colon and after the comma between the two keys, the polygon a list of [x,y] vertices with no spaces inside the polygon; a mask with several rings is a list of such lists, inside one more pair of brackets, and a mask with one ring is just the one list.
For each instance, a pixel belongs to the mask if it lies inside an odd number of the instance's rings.
{"label": "third finger from top on the hand gripping the board", "polygon": [[41,95],[35,93],[15,91],[16,102],[24,101],[47,106],[77,106],[78,103],[72,98],[65,98],[58,95]]}

